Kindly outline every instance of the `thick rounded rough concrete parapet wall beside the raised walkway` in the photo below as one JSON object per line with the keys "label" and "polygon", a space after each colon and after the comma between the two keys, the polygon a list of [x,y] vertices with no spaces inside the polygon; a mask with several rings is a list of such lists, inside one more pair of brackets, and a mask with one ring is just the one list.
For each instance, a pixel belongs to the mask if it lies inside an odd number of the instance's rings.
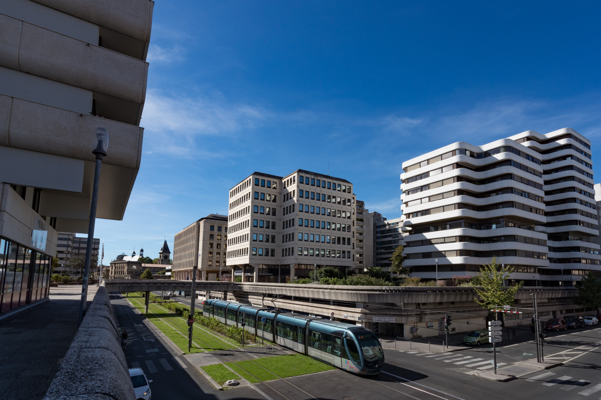
{"label": "thick rounded rough concrete parapet wall beside the raised walkway", "polygon": [[56,399],[136,399],[104,283],[44,396]]}

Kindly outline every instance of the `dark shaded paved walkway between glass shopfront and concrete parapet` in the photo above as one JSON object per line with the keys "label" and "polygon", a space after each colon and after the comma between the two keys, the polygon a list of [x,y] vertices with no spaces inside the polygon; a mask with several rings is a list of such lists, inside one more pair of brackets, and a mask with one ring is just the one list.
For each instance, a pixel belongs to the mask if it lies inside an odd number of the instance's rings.
{"label": "dark shaded paved walkway between glass shopfront and concrete parapet", "polygon": [[[88,304],[97,286],[88,288]],[[46,394],[78,329],[81,285],[50,288],[50,300],[0,321],[0,398]]]}

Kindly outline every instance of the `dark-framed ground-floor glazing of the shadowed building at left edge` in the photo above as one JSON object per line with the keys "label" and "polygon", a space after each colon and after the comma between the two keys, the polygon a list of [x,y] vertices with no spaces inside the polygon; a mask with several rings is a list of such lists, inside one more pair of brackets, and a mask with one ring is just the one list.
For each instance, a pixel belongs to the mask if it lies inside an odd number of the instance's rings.
{"label": "dark-framed ground-floor glazing of the shadowed building at left edge", "polygon": [[0,312],[48,297],[52,257],[0,237]]}

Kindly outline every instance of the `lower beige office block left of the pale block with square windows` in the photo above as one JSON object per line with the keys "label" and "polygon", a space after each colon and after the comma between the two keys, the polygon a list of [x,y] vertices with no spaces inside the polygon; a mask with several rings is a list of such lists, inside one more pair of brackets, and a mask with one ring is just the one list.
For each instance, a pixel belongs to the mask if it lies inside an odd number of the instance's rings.
{"label": "lower beige office block left of the pale block with square windows", "polygon": [[197,265],[197,280],[231,280],[231,269],[225,266],[227,228],[227,216],[209,214],[177,232],[173,245],[174,279],[192,279],[192,268]]}

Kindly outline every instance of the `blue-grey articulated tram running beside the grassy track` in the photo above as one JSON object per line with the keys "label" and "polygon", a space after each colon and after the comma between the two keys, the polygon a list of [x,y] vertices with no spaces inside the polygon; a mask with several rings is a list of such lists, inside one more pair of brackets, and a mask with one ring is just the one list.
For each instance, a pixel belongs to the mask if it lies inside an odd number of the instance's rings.
{"label": "blue-grey articulated tram running beside the grassy track", "polygon": [[216,299],[203,302],[203,315],[236,327],[244,321],[260,338],[354,374],[379,374],[384,366],[380,341],[361,326]]}

